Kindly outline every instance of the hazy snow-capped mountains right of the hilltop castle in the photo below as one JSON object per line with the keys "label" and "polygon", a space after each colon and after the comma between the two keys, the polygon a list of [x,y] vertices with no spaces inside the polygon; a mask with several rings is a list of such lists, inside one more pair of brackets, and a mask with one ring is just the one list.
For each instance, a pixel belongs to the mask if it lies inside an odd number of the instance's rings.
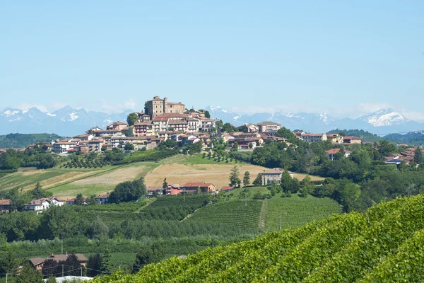
{"label": "hazy snow-capped mountains right of the hilltop castle", "polygon": [[307,132],[328,132],[331,129],[364,129],[375,134],[408,132],[424,129],[424,125],[408,120],[404,115],[391,109],[379,110],[357,119],[335,117],[327,113],[257,113],[241,115],[220,106],[205,108],[211,117],[240,126],[245,123],[271,121],[288,129],[302,129]]}

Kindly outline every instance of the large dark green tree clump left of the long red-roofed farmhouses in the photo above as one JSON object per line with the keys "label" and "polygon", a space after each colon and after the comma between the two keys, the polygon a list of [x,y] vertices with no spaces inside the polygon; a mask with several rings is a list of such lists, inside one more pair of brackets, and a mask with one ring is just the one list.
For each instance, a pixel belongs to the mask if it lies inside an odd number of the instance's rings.
{"label": "large dark green tree clump left of the long red-roofed farmhouses", "polygon": [[144,179],[126,181],[118,184],[109,195],[109,202],[134,202],[146,195],[146,185]]}

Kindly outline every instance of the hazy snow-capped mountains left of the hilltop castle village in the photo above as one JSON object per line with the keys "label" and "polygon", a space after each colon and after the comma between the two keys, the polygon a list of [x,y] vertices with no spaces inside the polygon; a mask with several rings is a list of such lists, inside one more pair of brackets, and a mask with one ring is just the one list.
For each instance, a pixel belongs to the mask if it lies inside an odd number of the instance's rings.
{"label": "hazy snow-capped mountains left of the hilltop castle village", "polygon": [[37,108],[5,108],[0,111],[0,134],[47,132],[71,137],[83,134],[93,126],[104,128],[113,121],[126,121],[130,112],[132,111],[127,110],[119,114],[107,114],[86,111],[83,108],[73,109],[70,106],[52,113],[42,112]]}

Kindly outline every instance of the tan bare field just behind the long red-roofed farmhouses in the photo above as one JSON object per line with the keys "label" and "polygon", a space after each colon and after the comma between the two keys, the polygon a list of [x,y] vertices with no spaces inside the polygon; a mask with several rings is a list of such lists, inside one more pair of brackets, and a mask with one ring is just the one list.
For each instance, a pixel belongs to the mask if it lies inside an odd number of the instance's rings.
{"label": "tan bare field just behind the long red-roofed farmhouses", "polygon": [[[233,165],[224,164],[163,164],[146,175],[147,186],[158,185],[162,187],[163,179],[166,178],[168,184],[180,184],[189,182],[213,183],[217,188],[228,185],[230,170]],[[264,172],[266,168],[255,165],[239,165],[240,178],[243,178],[245,171],[249,171],[250,180],[253,182],[258,173]]]}

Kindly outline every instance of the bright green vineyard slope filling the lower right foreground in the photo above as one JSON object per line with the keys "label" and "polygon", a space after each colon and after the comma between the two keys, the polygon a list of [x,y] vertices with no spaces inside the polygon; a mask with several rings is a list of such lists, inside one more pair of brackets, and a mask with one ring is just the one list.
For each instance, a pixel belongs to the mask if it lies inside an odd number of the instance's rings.
{"label": "bright green vineyard slope filling the lower right foreground", "polygon": [[422,282],[424,195],[170,258],[117,282]]}

